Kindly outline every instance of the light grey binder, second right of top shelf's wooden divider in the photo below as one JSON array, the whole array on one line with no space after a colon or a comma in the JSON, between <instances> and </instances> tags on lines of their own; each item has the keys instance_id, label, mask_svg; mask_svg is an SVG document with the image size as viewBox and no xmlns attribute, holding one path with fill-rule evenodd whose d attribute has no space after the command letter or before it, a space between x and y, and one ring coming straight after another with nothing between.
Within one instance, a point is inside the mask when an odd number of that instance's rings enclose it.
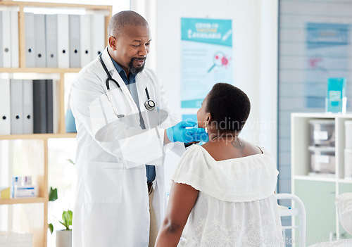
<instances>
[{"instance_id":1,"label":"light grey binder, second right of top shelf's wooden divider","mask_svg":"<svg viewBox=\"0 0 352 247\"><path fill-rule=\"evenodd\" d=\"M34 15L35 67L46 67L45 16Z\"/></svg>"}]
</instances>

